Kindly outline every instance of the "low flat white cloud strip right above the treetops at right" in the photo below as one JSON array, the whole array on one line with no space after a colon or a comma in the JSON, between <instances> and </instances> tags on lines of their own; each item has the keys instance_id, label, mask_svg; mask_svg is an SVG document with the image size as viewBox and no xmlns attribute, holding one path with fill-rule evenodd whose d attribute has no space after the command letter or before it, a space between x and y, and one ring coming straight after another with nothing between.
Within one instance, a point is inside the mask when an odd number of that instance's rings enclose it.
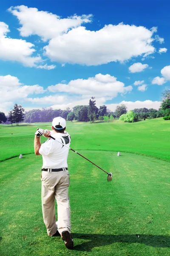
<instances>
[{"instance_id":1,"label":"low flat white cloud strip right above the treetops at right","mask_svg":"<svg viewBox=\"0 0 170 256\"><path fill-rule=\"evenodd\" d=\"M125 104L127 107L127 110L133 110L134 108L154 108L159 110L161 102L159 101L151 101L151 100L145 100L145 101L135 101L135 102L126 102L122 101L119 104L105 104L111 111L116 110L117 105Z\"/></svg>"}]
</instances>

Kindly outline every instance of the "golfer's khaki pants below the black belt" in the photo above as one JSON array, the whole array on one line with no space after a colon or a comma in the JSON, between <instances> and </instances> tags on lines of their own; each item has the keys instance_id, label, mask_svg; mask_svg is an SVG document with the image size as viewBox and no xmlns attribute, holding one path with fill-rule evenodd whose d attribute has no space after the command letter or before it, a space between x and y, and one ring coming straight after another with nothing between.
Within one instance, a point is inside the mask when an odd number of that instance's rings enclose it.
<instances>
[{"instance_id":1,"label":"golfer's khaki pants below the black belt","mask_svg":"<svg viewBox=\"0 0 170 256\"><path fill-rule=\"evenodd\" d=\"M45 172L41 174L42 181L42 214L48 236L53 236L58 231L67 230L71 233L70 204L68 186L70 184L69 172ZM58 221L56 225L55 199L57 201ZM58 226L58 227L57 227Z\"/></svg>"}]
</instances>

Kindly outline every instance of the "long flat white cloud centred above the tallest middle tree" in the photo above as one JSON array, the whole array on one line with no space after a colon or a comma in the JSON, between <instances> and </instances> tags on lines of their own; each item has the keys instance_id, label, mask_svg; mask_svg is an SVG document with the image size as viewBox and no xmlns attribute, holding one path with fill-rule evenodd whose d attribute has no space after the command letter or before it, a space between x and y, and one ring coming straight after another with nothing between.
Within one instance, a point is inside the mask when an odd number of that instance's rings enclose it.
<instances>
[{"instance_id":1,"label":"long flat white cloud centred above the tallest middle tree","mask_svg":"<svg viewBox=\"0 0 170 256\"><path fill-rule=\"evenodd\" d=\"M117 81L116 77L109 74L97 74L88 79L71 80L68 84L56 84L48 87L48 91L80 94L83 97L116 97L118 93L125 94L133 89L132 86L125 87L125 84Z\"/></svg>"}]
</instances>

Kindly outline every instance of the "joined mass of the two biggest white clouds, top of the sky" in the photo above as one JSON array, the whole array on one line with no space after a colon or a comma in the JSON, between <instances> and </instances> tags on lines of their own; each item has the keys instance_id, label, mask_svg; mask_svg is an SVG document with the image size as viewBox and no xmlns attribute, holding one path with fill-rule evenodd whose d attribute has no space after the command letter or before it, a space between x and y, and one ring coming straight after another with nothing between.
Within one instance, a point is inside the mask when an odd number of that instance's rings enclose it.
<instances>
[{"instance_id":1,"label":"joined mass of the two biggest white clouds, top of the sky","mask_svg":"<svg viewBox=\"0 0 170 256\"><path fill-rule=\"evenodd\" d=\"M100 65L111 61L126 61L130 58L143 58L154 53L154 40L164 41L159 35L153 38L157 27L147 29L143 26L105 25L97 31L87 30L84 26L91 23L92 15L73 15L62 18L37 8L15 6L8 9L20 23L20 35L38 35L48 41L44 54L51 61L81 65Z\"/></svg>"}]
</instances>

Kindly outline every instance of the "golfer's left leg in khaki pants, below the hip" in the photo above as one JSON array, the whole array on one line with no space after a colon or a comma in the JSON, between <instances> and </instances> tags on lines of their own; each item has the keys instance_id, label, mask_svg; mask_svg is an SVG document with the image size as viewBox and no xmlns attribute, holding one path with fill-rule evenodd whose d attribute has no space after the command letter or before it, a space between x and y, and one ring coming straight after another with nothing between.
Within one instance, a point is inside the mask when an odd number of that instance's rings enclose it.
<instances>
[{"instance_id":1,"label":"golfer's left leg in khaki pants, below the hip","mask_svg":"<svg viewBox=\"0 0 170 256\"><path fill-rule=\"evenodd\" d=\"M42 178L42 215L45 226L47 227L48 236L53 236L57 232L55 216L55 195L54 186L48 186L45 179Z\"/></svg>"}]
</instances>

